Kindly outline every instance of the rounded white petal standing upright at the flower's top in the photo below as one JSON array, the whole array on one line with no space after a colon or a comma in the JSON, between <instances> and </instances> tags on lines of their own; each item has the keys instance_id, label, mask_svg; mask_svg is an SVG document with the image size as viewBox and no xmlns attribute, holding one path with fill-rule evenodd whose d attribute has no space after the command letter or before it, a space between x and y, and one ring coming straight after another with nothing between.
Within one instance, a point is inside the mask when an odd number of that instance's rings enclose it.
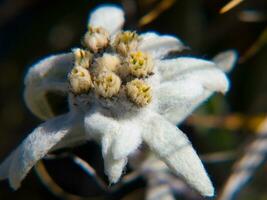
<instances>
[{"instance_id":1,"label":"rounded white petal standing upright at the flower's top","mask_svg":"<svg viewBox=\"0 0 267 200\"><path fill-rule=\"evenodd\" d=\"M101 26L113 35L124 24L124 12L116 5L100 6L90 15L88 24L95 27Z\"/></svg>"}]
</instances>

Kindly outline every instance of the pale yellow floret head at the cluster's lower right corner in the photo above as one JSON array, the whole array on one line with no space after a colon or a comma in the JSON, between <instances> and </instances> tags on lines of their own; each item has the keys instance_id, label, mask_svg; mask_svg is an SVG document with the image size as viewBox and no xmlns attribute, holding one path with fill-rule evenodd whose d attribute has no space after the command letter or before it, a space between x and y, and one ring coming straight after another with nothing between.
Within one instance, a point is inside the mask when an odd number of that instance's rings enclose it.
<instances>
[{"instance_id":1,"label":"pale yellow floret head at the cluster's lower right corner","mask_svg":"<svg viewBox=\"0 0 267 200\"><path fill-rule=\"evenodd\" d=\"M151 87L143 80L135 79L126 84L129 99L138 106L148 105L152 100Z\"/></svg>"}]
</instances>

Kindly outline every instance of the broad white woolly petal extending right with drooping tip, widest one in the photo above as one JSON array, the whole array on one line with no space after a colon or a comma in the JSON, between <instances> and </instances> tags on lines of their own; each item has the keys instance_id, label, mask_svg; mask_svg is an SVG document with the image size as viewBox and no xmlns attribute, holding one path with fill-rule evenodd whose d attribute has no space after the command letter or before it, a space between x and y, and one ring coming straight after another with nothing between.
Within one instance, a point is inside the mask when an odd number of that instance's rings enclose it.
<instances>
[{"instance_id":1,"label":"broad white woolly petal extending right with drooping tip, widest one","mask_svg":"<svg viewBox=\"0 0 267 200\"><path fill-rule=\"evenodd\" d=\"M225 74L214 63L201 59L166 60L161 62L159 70L163 80L171 81L163 83L155 92L159 99L158 112L173 124L184 120L213 92L224 93L229 87Z\"/></svg>"}]
</instances>

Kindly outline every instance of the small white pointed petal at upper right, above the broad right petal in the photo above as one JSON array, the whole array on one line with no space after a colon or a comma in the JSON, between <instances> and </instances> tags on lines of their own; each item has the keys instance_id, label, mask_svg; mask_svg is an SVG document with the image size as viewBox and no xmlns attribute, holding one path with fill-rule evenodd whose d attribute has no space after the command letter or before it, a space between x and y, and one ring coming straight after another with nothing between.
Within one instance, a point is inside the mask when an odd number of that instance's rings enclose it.
<instances>
[{"instance_id":1,"label":"small white pointed petal at upper right, above the broad right petal","mask_svg":"<svg viewBox=\"0 0 267 200\"><path fill-rule=\"evenodd\" d=\"M171 51L181 51L185 48L179 39L170 35L148 32L140 37L140 50L150 53L156 59L166 56Z\"/></svg>"}]
</instances>

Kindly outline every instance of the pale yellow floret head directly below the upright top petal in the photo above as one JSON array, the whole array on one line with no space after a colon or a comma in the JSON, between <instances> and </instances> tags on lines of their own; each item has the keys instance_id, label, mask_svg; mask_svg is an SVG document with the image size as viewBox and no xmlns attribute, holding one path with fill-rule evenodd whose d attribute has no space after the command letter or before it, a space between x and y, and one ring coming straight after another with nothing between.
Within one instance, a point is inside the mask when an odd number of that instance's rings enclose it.
<instances>
[{"instance_id":1,"label":"pale yellow floret head directly below the upright top petal","mask_svg":"<svg viewBox=\"0 0 267 200\"><path fill-rule=\"evenodd\" d=\"M97 53L109 44L109 33L102 27L89 27L83 40L85 46Z\"/></svg>"}]
</instances>

